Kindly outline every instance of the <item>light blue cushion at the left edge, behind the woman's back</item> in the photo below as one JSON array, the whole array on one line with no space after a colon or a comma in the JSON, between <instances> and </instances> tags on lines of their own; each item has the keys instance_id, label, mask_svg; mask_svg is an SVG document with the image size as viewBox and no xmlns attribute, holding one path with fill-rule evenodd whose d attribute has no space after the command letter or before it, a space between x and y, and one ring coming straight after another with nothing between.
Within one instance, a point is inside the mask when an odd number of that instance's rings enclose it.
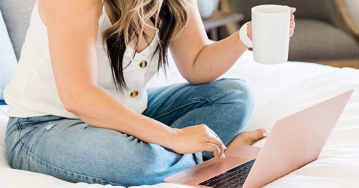
<instances>
[{"instance_id":1,"label":"light blue cushion at the left edge, behind the woman's back","mask_svg":"<svg viewBox=\"0 0 359 188\"><path fill-rule=\"evenodd\" d=\"M0 10L0 104L4 101L4 89L10 82L17 65L17 59Z\"/></svg>"}]
</instances>

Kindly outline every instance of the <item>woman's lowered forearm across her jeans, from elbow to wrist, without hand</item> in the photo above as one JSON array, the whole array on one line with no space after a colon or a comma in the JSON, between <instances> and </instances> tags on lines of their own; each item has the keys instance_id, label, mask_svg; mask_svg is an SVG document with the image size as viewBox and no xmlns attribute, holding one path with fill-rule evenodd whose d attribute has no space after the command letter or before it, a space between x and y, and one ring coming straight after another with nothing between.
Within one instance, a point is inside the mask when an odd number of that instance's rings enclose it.
<instances>
[{"instance_id":1,"label":"woman's lowered forearm across her jeans, from elbow to wrist, without hand","mask_svg":"<svg viewBox=\"0 0 359 188\"><path fill-rule=\"evenodd\" d=\"M174 129L126 107L102 87L87 87L67 109L93 127L117 130L141 141L169 147ZM72 103L71 105L69 103Z\"/></svg>"}]
</instances>

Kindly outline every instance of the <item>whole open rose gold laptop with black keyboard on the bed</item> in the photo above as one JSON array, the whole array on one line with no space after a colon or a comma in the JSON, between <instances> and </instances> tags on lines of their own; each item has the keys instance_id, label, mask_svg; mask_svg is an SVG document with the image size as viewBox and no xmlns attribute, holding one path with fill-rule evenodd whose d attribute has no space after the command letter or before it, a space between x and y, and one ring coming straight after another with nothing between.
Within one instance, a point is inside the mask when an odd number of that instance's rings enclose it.
<instances>
[{"instance_id":1,"label":"whole open rose gold laptop with black keyboard on the bed","mask_svg":"<svg viewBox=\"0 0 359 188\"><path fill-rule=\"evenodd\" d=\"M316 160L353 90L278 120L263 148L241 146L165 178L199 188L258 188Z\"/></svg>"}]
</instances>

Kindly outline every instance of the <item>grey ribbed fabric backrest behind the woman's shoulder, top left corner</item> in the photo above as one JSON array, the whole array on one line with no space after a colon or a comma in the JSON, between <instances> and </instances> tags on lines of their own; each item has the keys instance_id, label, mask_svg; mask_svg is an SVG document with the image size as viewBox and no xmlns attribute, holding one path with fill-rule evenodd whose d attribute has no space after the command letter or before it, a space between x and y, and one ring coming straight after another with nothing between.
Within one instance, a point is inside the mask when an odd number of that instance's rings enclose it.
<instances>
[{"instance_id":1,"label":"grey ribbed fabric backrest behind the woman's shoulder, top left corner","mask_svg":"<svg viewBox=\"0 0 359 188\"><path fill-rule=\"evenodd\" d=\"M5 25L18 60L35 3L36 0L0 1L0 10L3 13Z\"/></svg>"}]
</instances>

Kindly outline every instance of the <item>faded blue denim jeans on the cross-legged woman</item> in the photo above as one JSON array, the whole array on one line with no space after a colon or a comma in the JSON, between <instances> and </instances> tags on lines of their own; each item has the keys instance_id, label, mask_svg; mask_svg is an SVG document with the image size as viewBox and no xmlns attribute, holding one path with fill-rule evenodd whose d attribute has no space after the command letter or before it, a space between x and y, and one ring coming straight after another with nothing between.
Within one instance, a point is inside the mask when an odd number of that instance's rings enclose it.
<instances>
[{"instance_id":1,"label":"faded blue denim jeans on the cross-legged woman","mask_svg":"<svg viewBox=\"0 0 359 188\"><path fill-rule=\"evenodd\" d=\"M253 95L240 79L220 79L148 89L143 115L174 127L206 124L228 145L253 111ZM124 117L126 118L126 117ZM48 174L68 182L157 184L211 158L210 152L182 155L80 119L59 116L10 118L6 154L14 169Z\"/></svg>"}]
</instances>

